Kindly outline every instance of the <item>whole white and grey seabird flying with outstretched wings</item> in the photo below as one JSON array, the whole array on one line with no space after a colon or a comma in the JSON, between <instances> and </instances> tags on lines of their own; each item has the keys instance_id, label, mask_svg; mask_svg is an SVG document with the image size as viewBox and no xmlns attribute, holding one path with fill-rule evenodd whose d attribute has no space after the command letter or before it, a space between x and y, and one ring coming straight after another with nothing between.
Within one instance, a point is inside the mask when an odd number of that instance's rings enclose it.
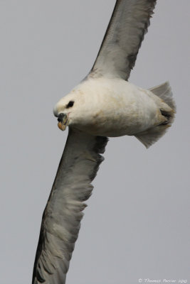
<instances>
[{"instance_id":1,"label":"whole white and grey seabird flying with outstretched wings","mask_svg":"<svg viewBox=\"0 0 190 284\"><path fill-rule=\"evenodd\" d=\"M133 135L149 147L174 119L166 82L142 89L128 82L156 0L117 0L92 70L56 104L58 127L68 126L43 212L32 284L64 284L107 137Z\"/></svg>"}]
</instances>

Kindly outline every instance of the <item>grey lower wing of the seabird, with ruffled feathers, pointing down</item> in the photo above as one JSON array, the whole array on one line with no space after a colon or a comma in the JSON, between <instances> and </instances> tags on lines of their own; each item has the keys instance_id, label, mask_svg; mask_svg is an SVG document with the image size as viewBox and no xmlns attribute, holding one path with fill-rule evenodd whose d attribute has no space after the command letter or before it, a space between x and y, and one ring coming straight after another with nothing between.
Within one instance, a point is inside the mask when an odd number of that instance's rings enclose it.
<instances>
[{"instance_id":1,"label":"grey lower wing of the seabird, with ruffled feathers, pointing down","mask_svg":"<svg viewBox=\"0 0 190 284\"><path fill-rule=\"evenodd\" d=\"M91 195L106 137L69 130L51 195L43 212L32 284L64 284L85 200Z\"/></svg>"}]
</instances>

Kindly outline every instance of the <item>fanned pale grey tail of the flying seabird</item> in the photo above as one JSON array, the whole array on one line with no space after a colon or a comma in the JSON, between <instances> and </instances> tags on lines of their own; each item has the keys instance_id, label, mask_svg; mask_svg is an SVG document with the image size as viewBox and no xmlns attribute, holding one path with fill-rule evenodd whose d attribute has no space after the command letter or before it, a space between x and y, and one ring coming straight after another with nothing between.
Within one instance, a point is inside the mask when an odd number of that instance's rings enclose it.
<instances>
[{"instance_id":1,"label":"fanned pale grey tail of the flying seabird","mask_svg":"<svg viewBox=\"0 0 190 284\"><path fill-rule=\"evenodd\" d=\"M162 116L165 116L167 121L164 121L164 123L159 124L152 129L142 131L135 136L147 148L149 148L149 146L151 146L153 143L157 142L159 138L161 138L164 133L166 133L167 129L174 121L174 114L176 112L176 104L172 97L169 82L165 82L164 84L160 84L157 87L153 87L149 89L149 91L151 91L153 94L156 94L157 97L162 99L169 106L169 109L160 109Z\"/></svg>"}]
</instances>

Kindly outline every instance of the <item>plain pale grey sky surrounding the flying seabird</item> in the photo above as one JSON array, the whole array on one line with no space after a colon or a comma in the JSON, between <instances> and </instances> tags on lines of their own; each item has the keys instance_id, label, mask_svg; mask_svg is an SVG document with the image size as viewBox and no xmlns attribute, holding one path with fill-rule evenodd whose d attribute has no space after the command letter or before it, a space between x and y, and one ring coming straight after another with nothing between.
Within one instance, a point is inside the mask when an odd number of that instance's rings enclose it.
<instances>
[{"instance_id":1,"label":"plain pale grey sky surrounding the flying seabird","mask_svg":"<svg viewBox=\"0 0 190 284\"><path fill-rule=\"evenodd\" d=\"M158 0L130 81L169 80L177 114L146 150L112 138L67 284L188 279L189 0ZM54 104L87 75L115 0L0 0L2 284L31 283L41 216L65 145Z\"/></svg>"}]
</instances>

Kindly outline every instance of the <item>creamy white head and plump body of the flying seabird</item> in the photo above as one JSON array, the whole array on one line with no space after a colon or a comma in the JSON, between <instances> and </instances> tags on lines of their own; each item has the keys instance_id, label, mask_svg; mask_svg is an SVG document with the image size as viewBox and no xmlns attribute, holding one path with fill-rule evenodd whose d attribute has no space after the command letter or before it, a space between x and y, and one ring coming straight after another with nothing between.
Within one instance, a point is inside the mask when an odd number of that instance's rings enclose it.
<instances>
[{"instance_id":1,"label":"creamy white head and plump body of the flying seabird","mask_svg":"<svg viewBox=\"0 0 190 284\"><path fill-rule=\"evenodd\" d=\"M65 105L74 102L72 108ZM173 114L163 99L121 78L89 76L60 99L54 114L68 115L68 125L97 136L138 135L167 121Z\"/></svg>"}]
</instances>

